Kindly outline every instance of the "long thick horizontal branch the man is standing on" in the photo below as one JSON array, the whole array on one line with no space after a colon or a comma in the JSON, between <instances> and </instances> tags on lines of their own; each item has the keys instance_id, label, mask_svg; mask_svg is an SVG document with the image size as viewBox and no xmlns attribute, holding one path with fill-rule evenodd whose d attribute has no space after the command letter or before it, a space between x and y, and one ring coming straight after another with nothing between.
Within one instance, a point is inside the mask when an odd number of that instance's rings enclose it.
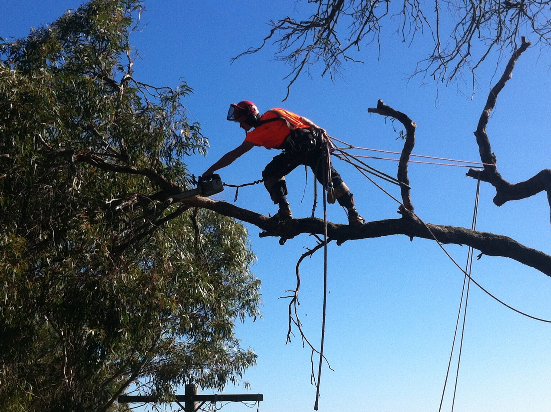
<instances>
[{"instance_id":1,"label":"long thick horizontal branch the man is standing on","mask_svg":"<svg viewBox=\"0 0 551 412\"><path fill-rule=\"evenodd\" d=\"M204 207L222 215L251 223L264 231L260 234L261 237L275 236L290 239L301 233L323 234L323 221L317 218L279 221L276 218L269 218L223 201L201 196L184 199L182 203L188 206ZM510 258L551 276L550 255L526 247L510 237L489 232L472 231L462 227L425 224L426 227L413 214L404 213L402 218L368 222L360 228L327 222L327 234L330 239L336 240L337 244L342 244L346 240L369 239L395 234L432 240L434 234L441 243L465 244L480 250L485 255Z\"/></svg>"}]
</instances>

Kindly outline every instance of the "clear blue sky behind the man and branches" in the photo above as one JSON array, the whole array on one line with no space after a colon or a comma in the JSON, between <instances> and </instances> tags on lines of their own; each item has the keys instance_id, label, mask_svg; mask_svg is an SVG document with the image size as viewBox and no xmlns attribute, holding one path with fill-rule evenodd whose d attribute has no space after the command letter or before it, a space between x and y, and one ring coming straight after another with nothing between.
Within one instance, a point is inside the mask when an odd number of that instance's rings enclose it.
<instances>
[{"instance_id":1,"label":"clear blue sky behind the man and branches","mask_svg":"<svg viewBox=\"0 0 551 412\"><path fill-rule=\"evenodd\" d=\"M78 0L2 0L0 36L24 36L78 7ZM229 103L254 101L261 112L283 107L309 117L329 134L356 146L400 151L390 121L369 115L377 99L408 114L417 123L414 153L479 160L473 136L491 87L499 77L490 56L479 71L476 94L469 85L444 87L430 80L407 77L415 62L425 57L426 40L411 47L399 42L391 24L383 27L380 59L376 47L365 45L355 55L364 64L347 63L334 83L321 78L314 67L311 78L302 76L287 101L289 68L273 59L273 47L245 56L233 65L230 58L259 45L268 33L269 19L293 14L306 2L185 2L145 1L145 28L134 33L132 45L141 59L135 77L156 85L176 86L182 77L195 90L184 102L192 119L201 122L210 139L208 157L194 158L196 175L238 146L244 133L225 120ZM530 39L529 40L534 40ZM551 54L532 47L520 58L512 80L499 95L488 135L505 179L516 183L551 167L549 113ZM467 90L468 97L462 92ZM396 125L399 130L399 125ZM276 151L255 148L220 170L226 183L260 179ZM398 217L397 205L354 169L336 161L336 168L354 192L367 220ZM395 175L396 163L370 164ZM466 168L410 164L409 178L415 212L426 222L470 227L476 181ZM288 176L295 217L310 216L313 178L298 168ZM306 194L301 202L303 191ZM398 196L396 186L383 186ZM545 194L501 207L492 203L495 190L482 184L478 229L510 236L530 247L551 253L549 206ZM234 191L217 199L233 202ZM236 204L267 215L276 206L262 185L240 190ZM321 207L317 209L321 217ZM329 206L328 218L344 223L341 207ZM258 238L247 226L257 255L253 266L262 280L263 318L240 325L242 345L258 354L258 365L247 371L250 393L263 393L263 412L312 410L315 387L310 384L310 350L297 337L285 345L287 299L294 288L294 267L305 248L315 245L307 235L280 246L277 238ZM447 245L462 265L467 248ZM453 329L459 304L462 273L434 242L404 236L349 241L329 245L329 292L325 354L334 372L324 369L321 411L436 411L444 384ZM477 254L477 252L475 252ZM323 254L318 252L301 266L300 315L309 339L319 345L323 288ZM524 312L551 319L551 279L515 261L483 256L473 265L473 277L505 302ZM551 406L551 325L522 317L471 288L464 335L456 411L548 411ZM317 362L317 361L316 361ZM451 388L450 388L451 389ZM450 392L449 389L449 392ZM247 392L228 387L226 393ZM450 410L451 397L444 409ZM228 411L243 411L230 405Z\"/></svg>"}]
</instances>

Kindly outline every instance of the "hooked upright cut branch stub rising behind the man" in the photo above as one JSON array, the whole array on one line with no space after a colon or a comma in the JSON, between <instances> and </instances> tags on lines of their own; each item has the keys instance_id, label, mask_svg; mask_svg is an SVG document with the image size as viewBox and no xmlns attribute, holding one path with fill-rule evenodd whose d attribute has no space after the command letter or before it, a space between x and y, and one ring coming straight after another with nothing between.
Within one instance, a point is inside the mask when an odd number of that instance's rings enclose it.
<instances>
[{"instance_id":1,"label":"hooked upright cut branch stub rising behind the man","mask_svg":"<svg viewBox=\"0 0 551 412\"><path fill-rule=\"evenodd\" d=\"M408 178L408 162L409 157L413 151L413 146L415 145L415 122L409 118L406 114L401 111L391 108L391 106L383 103L381 99L377 100L376 109L368 109L368 113L377 113L382 116L393 117L394 119L401 122L401 124L406 129L406 142L402 149L402 154L400 155L400 161L398 163L398 181L404 183L400 185L400 191L402 195L403 206L408 210L413 212L413 204L410 195L409 189L409 178Z\"/></svg>"}]
</instances>

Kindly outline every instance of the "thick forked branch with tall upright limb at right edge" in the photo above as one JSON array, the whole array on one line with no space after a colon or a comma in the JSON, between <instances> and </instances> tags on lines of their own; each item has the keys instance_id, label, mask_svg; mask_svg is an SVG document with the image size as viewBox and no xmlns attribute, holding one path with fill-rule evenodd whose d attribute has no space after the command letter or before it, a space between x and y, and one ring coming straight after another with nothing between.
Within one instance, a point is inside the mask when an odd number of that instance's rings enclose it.
<instances>
[{"instance_id":1,"label":"thick forked branch with tall upright limb at right edge","mask_svg":"<svg viewBox=\"0 0 551 412\"><path fill-rule=\"evenodd\" d=\"M505 67L503 76L501 76L498 83L496 83L490 90L488 100L478 121L477 130L474 132L474 136L477 138L480 160L484 163L484 170L480 172L476 169L470 169L467 172L467 176L486 181L493 185L496 192L494 204L497 206L501 206L510 200L525 199L526 197L533 196L545 190L547 192L549 207L551 208L551 170L544 169L532 178L520 183L509 183L498 172L496 166L496 156L491 152L490 140L486 132L486 126L488 125L490 113L495 107L499 92L501 92L501 89L505 87L507 81L511 79L516 61L530 45L531 42L527 41L526 38L523 37L522 45L511 56L507 66Z\"/></svg>"}]
</instances>

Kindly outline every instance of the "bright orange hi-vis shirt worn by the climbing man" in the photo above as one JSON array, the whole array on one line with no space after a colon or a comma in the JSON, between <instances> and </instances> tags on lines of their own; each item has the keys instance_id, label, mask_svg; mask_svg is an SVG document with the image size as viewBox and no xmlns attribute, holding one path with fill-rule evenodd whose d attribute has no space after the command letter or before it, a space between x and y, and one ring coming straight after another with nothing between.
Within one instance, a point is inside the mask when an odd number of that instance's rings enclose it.
<instances>
[{"instance_id":1,"label":"bright orange hi-vis shirt worn by the climbing man","mask_svg":"<svg viewBox=\"0 0 551 412\"><path fill-rule=\"evenodd\" d=\"M299 115L291 113L284 109L271 109L260 116L260 120L273 119L274 117L284 117L293 127L293 129L307 129L310 126L300 119ZM246 142L254 143L256 146L263 146L268 149L278 149L285 138L289 136L290 130L287 122L281 119L280 121L271 121L264 125L255 127L247 133Z\"/></svg>"}]
</instances>

